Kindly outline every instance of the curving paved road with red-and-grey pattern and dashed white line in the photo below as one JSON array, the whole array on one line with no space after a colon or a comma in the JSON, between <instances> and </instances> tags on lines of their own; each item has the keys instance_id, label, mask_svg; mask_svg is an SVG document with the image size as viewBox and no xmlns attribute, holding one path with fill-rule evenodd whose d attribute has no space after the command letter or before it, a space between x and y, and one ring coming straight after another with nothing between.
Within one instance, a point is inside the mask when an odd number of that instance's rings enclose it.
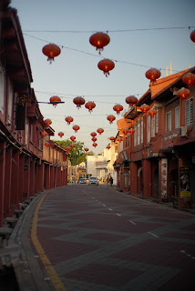
<instances>
[{"instance_id":1,"label":"curving paved road with red-and-grey pattern and dashed white line","mask_svg":"<svg viewBox=\"0 0 195 291\"><path fill-rule=\"evenodd\" d=\"M50 190L31 236L52 290L195 290L195 216L108 186Z\"/></svg>"}]
</instances>

